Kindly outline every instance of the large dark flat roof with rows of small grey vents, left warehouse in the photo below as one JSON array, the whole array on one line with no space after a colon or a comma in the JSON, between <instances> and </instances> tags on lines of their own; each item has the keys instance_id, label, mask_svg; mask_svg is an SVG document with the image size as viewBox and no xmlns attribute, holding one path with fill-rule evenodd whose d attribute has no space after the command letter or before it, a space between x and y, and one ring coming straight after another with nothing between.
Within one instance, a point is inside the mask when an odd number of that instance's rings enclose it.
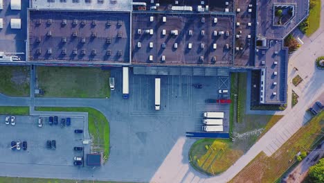
<instances>
[{"instance_id":1,"label":"large dark flat roof with rows of small grey vents, left warehouse","mask_svg":"<svg viewBox=\"0 0 324 183\"><path fill-rule=\"evenodd\" d=\"M128 12L29 11L29 60L129 62Z\"/></svg>"}]
</instances>

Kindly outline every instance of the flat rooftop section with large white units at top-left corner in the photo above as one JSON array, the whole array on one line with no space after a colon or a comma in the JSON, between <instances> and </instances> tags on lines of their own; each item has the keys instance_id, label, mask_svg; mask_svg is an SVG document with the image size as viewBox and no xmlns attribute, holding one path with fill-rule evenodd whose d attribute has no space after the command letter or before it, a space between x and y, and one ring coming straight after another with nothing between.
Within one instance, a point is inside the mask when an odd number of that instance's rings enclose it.
<instances>
[{"instance_id":1,"label":"flat rooftop section with large white units at top-left corner","mask_svg":"<svg viewBox=\"0 0 324 183\"><path fill-rule=\"evenodd\" d=\"M28 1L21 1L21 10L11 10L10 0L3 0L3 9L0 10L0 19L3 21L3 28L0 28L0 51L18 54L21 60L26 59L27 39L27 8ZM13 29L10 26L11 19L21 19L21 28ZM16 55L16 54L8 54Z\"/></svg>"}]
</instances>

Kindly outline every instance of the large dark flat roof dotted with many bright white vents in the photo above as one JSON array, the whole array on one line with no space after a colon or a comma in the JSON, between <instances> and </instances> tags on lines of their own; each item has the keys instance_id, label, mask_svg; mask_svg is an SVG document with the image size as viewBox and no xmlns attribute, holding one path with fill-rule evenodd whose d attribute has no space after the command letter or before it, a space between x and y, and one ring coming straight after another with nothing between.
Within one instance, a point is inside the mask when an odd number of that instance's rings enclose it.
<instances>
[{"instance_id":1,"label":"large dark flat roof dotted with many bright white vents","mask_svg":"<svg viewBox=\"0 0 324 183\"><path fill-rule=\"evenodd\" d=\"M231 65L233 19L233 15L133 12L132 63Z\"/></svg>"}]
</instances>

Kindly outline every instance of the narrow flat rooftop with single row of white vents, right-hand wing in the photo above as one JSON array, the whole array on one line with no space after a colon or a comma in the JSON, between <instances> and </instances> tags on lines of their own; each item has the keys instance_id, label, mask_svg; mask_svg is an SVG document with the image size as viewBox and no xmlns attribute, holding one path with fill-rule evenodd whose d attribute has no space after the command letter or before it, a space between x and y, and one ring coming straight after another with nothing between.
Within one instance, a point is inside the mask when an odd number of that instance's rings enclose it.
<instances>
[{"instance_id":1,"label":"narrow flat rooftop with single row of white vents, right-hand wing","mask_svg":"<svg viewBox=\"0 0 324 183\"><path fill-rule=\"evenodd\" d=\"M267 44L267 49L258 49L255 61L256 66L265 69L264 103L282 104L287 98L288 50L283 48L282 40L269 40Z\"/></svg>"}]
</instances>

